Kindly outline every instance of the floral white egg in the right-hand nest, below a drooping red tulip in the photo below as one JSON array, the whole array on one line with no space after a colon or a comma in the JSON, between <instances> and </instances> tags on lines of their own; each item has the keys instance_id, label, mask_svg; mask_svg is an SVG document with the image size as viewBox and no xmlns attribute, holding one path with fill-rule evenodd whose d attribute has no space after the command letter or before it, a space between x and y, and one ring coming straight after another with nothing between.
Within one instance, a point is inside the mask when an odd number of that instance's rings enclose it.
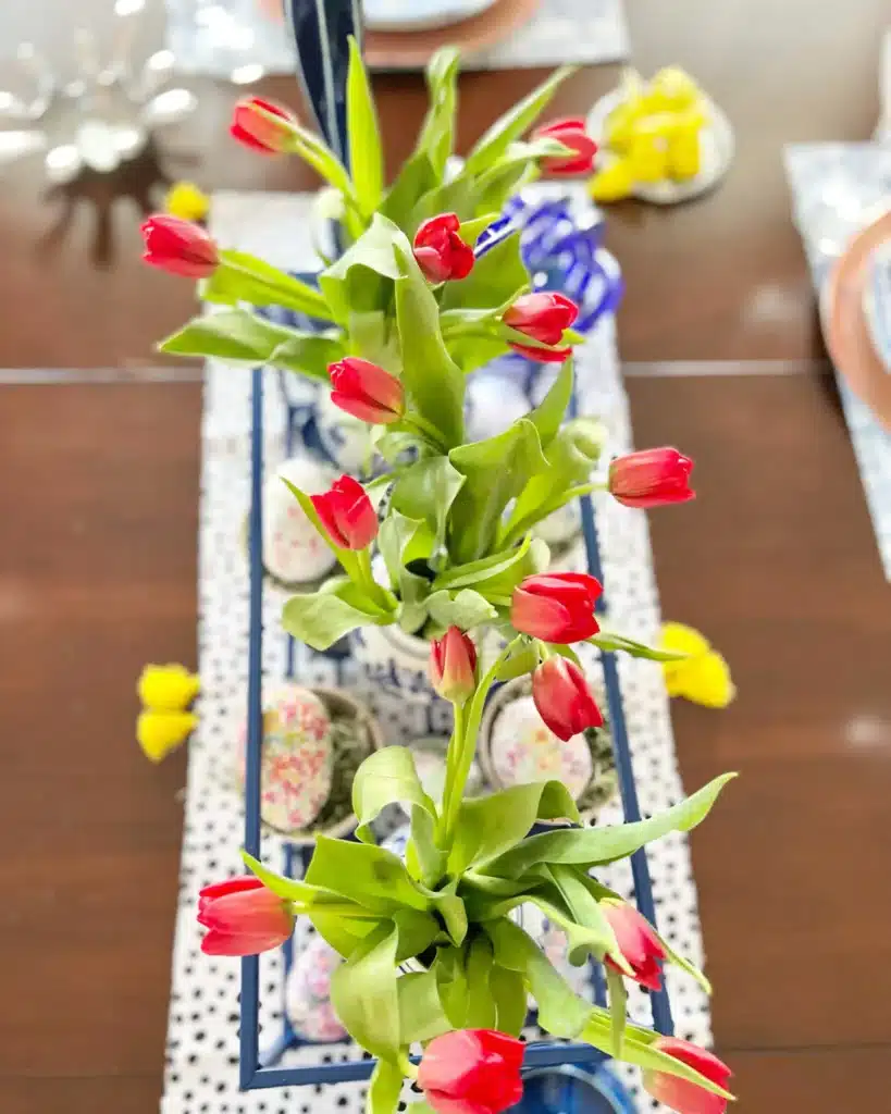
<instances>
[{"instance_id":1,"label":"floral white egg in the right-hand nest, below a drooping red tulip","mask_svg":"<svg viewBox=\"0 0 891 1114\"><path fill-rule=\"evenodd\" d=\"M506 788L554 779L578 799L594 774L585 736L574 735L567 742L558 739L542 723L531 696L518 696L498 713L489 737L489 758L496 779Z\"/></svg>"}]
</instances>

